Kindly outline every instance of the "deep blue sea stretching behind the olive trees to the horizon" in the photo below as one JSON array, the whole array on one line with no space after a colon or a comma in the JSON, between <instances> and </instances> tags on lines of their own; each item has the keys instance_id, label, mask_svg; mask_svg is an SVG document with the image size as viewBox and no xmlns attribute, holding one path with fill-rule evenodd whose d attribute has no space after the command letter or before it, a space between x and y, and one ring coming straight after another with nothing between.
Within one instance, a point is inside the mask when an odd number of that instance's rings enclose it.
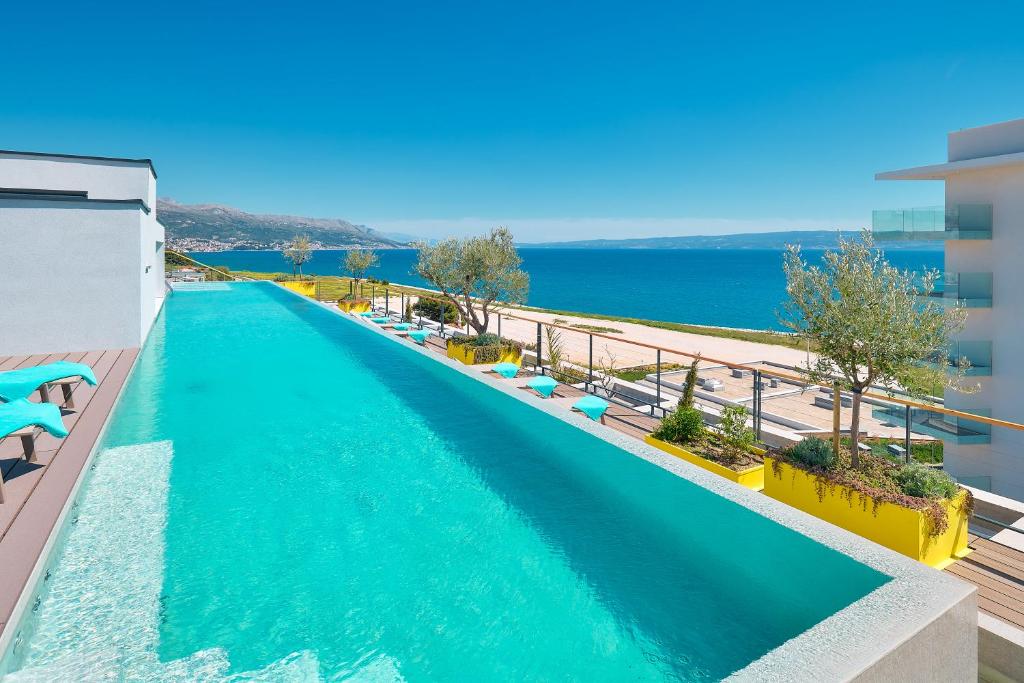
<instances>
[{"instance_id":1,"label":"deep blue sea stretching behind the olive trees to the horizon","mask_svg":"<svg viewBox=\"0 0 1024 683\"><path fill-rule=\"evenodd\" d=\"M412 249L377 252L380 265L368 276L427 286L413 271ZM805 250L816 263L823 251ZM754 330L784 330L779 310L785 299L782 250L757 249L528 249L519 255L529 273L531 306L673 323ZM222 251L188 254L231 270L290 271L281 252ZM346 274L343 250L313 252L302 270ZM943 252L893 250L899 268L942 269Z\"/></svg>"}]
</instances>

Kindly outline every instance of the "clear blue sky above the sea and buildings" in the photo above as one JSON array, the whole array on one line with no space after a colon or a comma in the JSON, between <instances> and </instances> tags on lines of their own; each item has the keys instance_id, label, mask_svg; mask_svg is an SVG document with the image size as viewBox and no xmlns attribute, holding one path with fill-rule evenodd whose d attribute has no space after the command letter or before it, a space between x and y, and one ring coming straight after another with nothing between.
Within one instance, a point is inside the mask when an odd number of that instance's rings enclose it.
<instances>
[{"instance_id":1,"label":"clear blue sky above the sea and buildings","mask_svg":"<svg viewBox=\"0 0 1024 683\"><path fill-rule=\"evenodd\" d=\"M876 172L1024 117L1009 0L210 4L6 7L0 148L151 157L186 203L538 241L863 225L942 201Z\"/></svg>"}]
</instances>

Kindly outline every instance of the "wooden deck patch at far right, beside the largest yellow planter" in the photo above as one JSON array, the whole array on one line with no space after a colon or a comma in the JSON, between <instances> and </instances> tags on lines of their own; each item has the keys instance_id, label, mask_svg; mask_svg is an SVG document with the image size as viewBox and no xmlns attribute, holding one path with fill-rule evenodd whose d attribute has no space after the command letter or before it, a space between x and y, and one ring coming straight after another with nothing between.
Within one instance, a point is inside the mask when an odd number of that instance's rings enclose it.
<instances>
[{"instance_id":1,"label":"wooden deck patch at far right, beside the largest yellow planter","mask_svg":"<svg viewBox=\"0 0 1024 683\"><path fill-rule=\"evenodd\" d=\"M978 587L978 609L1024 629L1024 553L971 535L973 551L946 571Z\"/></svg>"}]
</instances>

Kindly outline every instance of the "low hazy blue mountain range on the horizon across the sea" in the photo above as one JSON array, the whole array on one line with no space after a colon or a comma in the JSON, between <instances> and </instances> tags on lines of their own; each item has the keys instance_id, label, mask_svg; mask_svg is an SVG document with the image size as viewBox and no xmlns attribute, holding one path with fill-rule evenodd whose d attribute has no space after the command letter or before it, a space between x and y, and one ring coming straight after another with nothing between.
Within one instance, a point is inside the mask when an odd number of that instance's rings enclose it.
<instances>
[{"instance_id":1,"label":"low hazy blue mountain range on the horizon across the sea","mask_svg":"<svg viewBox=\"0 0 1024 683\"><path fill-rule=\"evenodd\" d=\"M856 238L856 230L787 230L739 234L693 234L678 238L633 238L628 240L578 240L520 244L530 249L783 249L799 244L804 249L833 249L839 238ZM886 242L892 249L942 249L941 242Z\"/></svg>"}]
</instances>

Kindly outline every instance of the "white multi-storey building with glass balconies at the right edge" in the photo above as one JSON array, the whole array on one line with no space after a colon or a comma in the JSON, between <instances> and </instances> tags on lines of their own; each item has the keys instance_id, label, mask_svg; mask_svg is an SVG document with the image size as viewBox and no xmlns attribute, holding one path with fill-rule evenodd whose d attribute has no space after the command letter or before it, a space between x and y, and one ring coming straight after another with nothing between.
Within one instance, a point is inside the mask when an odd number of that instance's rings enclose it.
<instances>
[{"instance_id":1,"label":"white multi-storey building with glass balconies at the right edge","mask_svg":"<svg viewBox=\"0 0 1024 683\"><path fill-rule=\"evenodd\" d=\"M944 298L969 308L950 355L971 361L966 379L981 387L947 391L946 404L1024 422L1024 119L949 133L946 163L876 177L945 181L945 207L876 211L873 230L945 241ZM943 435L950 474L1024 500L1024 432L934 414L913 420Z\"/></svg>"}]
</instances>

